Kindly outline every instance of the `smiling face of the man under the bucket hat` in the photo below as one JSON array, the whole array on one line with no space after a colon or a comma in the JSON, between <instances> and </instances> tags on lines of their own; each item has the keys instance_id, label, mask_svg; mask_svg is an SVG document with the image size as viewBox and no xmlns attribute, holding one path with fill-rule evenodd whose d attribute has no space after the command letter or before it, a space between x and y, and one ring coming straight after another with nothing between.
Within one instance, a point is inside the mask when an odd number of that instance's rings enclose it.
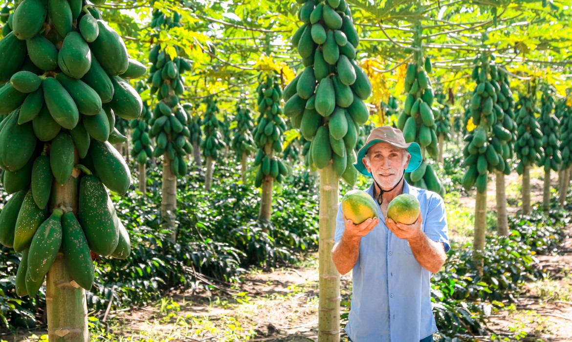
<instances>
[{"instance_id":1,"label":"smiling face of the man under the bucket hat","mask_svg":"<svg viewBox=\"0 0 572 342\"><path fill-rule=\"evenodd\" d=\"M364 157L363 164L383 190L391 189L398 183L411 158L406 149L396 148L388 142L371 146L367 156L369 158Z\"/></svg>"}]
</instances>

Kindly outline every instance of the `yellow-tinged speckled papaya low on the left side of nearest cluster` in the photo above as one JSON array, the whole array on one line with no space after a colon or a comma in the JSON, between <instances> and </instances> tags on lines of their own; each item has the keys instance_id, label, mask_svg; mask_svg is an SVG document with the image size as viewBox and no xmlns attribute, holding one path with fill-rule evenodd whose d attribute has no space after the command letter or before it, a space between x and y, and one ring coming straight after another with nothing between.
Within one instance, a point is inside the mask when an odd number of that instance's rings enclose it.
<instances>
[{"instance_id":1,"label":"yellow-tinged speckled papaya low on the left side of nearest cluster","mask_svg":"<svg viewBox=\"0 0 572 342\"><path fill-rule=\"evenodd\" d=\"M38 227L46 220L47 210L40 209L34 202L31 189L27 191L16 219L14 250L28 249Z\"/></svg>"}]
</instances>

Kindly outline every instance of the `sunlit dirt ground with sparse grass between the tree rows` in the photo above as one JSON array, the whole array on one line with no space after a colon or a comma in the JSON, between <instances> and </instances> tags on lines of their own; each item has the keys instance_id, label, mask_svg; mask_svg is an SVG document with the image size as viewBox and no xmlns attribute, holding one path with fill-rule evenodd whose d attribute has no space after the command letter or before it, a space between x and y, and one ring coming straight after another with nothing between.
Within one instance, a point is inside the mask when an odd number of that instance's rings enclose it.
<instances>
[{"instance_id":1,"label":"sunlit dirt ground with sparse grass between the tree rows","mask_svg":"<svg viewBox=\"0 0 572 342\"><path fill-rule=\"evenodd\" d=\"M518 181L515 173L506 179L507 184ZM531 201L542 201L542 179L533 178L531 190ZM495 210L494 181L489 183L488 196L491 197L489 209ZM510 213L519 209L514 204L518 202L516 198L508 198L507 202ZM474 198L463 197L462 205L474 208ZM538 257L542 267L550 270L549 279L528 284L513 309L491 315L490 328L496 335L514 336L515 331L521 331L528 333L527 337L519 338L524 341L572 341L571 226L567 228L567 236L561 255ZM214 291L173 293L169 302L111 312L109 325L103 325L102 329L112 335L98 340L114 341L121 337L130 341L177 342L316 341L318 274L315 257L317 254L308 260L307 267L251 272L239 285L217 283L220 289ZM351 274L342 276L343 301L350 299L350 285ZM42 333L45 332L35 332L38 336ZM0 340L35 341L29 336L29 333L13 339L0 336ZM345 336L342 339L345 341Z\"/></svg>"}]
</instances>

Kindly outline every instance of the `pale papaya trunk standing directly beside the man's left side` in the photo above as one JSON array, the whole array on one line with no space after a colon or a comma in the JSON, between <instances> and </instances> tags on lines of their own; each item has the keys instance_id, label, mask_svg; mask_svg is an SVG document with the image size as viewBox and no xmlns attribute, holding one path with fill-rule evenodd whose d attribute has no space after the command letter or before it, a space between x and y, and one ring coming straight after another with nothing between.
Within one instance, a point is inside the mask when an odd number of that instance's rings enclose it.
<instances>
[{"instance_id":1,"label":"pale papaya trunk standing directly beside the man's left side","mask_svg":"<svg viewBox=\"0 0 572 342\"><path fill-rule=\"evenodd\" d=\"M320 297L318 340L340 341L340 273L332 261L340 180L332 164L320 170Z\"/></svg>"}]
</instances>

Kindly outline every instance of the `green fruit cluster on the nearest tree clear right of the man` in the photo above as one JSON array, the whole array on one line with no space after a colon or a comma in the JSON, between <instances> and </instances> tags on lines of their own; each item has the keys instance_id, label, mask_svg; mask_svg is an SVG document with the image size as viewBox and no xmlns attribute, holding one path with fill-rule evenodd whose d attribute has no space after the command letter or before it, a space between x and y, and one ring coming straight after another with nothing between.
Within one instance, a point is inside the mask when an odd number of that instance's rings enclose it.
<instances>
[{"instance_id":1,"label":"green fruit cluster on the nearest tree clear right of the man","mask_svg":"<svg viewBox=\"0 0 572 342\"><path fill-rule=\"evenodd\" d=\"M467 145L463 149L463 166L467 172L462 185L470 190L475 184L478 192L487 188L488 172L495 170L510 173L507 161L510 157L509 142L513 139L510 130L503 127L505 112L499 103L506 102L506 92L499 84L499 73L494 61L487 54L475 58L472 79L476 88L471 97L471 118L476 128L464 137ZM509 89L510 91L510 89ZM499 102L499 98L503 101ZM510 125L512 121L507 121Z\"/></svg>"}]
</instances>

